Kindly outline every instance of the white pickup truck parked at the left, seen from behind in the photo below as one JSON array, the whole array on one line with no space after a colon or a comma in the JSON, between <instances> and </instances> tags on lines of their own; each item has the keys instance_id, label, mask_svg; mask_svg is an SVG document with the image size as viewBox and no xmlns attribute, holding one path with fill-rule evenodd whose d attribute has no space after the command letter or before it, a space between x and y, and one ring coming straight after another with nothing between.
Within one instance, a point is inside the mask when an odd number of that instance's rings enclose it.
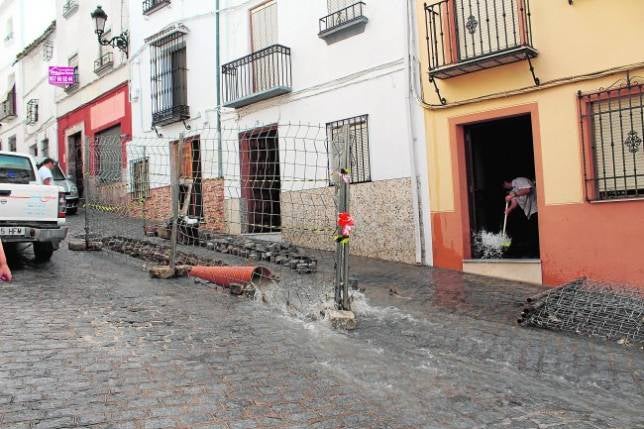
<instances>
[{"instance_id":1,"label":"white pickup truck parked at the left, seen from behind","mask_svg":"<svg viewBox=\"0 0 644 429\"><path fill-rule=\"evenodd\" d=\"M46 262L67 236L65 193L43 185L29 155L0 152L0 239L8 246L33 243Z\"/></svg>"}]
</instances>

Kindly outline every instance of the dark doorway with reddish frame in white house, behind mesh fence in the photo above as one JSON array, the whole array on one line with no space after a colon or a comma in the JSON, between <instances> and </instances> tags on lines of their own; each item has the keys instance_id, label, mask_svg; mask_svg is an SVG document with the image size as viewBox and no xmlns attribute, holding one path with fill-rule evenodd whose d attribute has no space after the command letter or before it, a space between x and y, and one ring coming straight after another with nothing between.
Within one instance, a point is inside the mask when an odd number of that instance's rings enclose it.
<instances>
[{"instance_id":1,"label":"dark doorway with reddish frame in white house, behind mesh fence","mask_svg":"<svg viewBox=\"0 0 644 429\"><path fill-rule=\"evenodd\" d=\"M240 136L242 222L244 232L281 230L280 159L276 127L264 127Z\"/></svg>"}]
</instances>

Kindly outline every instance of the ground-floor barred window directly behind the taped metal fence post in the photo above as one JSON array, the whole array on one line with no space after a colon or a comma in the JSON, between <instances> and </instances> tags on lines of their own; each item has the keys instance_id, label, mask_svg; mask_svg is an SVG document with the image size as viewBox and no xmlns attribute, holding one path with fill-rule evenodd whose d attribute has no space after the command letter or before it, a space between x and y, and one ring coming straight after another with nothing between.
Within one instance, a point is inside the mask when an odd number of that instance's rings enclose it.
<instances>
[{"instance_id":1,"label":"ground-floor barred window directly behind the taped metal fence post","mask_svg":"<svg viewBox=\"0 0 644 429\"><path fill-rule=\"evenodd\" d=\"M331 142L341 139L344 125L349 126L349 147L351 159L351 183L371 181L371 160L369 154L369 115L356 116L326 124L329 152L332 166L337 165L337 149Z\"/></svg>"}]
</instances>

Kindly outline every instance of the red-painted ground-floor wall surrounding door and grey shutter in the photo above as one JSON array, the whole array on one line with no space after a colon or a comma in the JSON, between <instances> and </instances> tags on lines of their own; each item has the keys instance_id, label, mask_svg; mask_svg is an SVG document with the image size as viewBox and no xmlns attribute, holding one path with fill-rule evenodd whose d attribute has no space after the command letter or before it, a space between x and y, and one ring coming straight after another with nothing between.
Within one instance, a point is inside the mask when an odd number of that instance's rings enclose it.
<instances>
[{"instance_id":1,"label":"red-painted ground-floor wall surrounding door and grey shutter","mask_svg":"<svg viewBox=\"0 0 644 429\"><path fill-rule=\"evenodd\" d=\"M120 118L114 119L110 122L101 123L100 126L92 128L91 112L92 108L113 98L123 95L123 102L125 104L123 112L125 113ZM129 92L127 82L107 91L106 93L96 97L89 103L69 112L58 118L58 159L60 161L63 171L67 171L67 139L65 132L68 128L74 127L79 123L83 124L85 138L93 139L96 133L99 133L108 128L120 125L121 133L126 134L128 137L123 143L131 139L132 136L132 106L129 102ZM125 145L123 146L123 162L126 161Z\"/></svg>"}]
</instances>

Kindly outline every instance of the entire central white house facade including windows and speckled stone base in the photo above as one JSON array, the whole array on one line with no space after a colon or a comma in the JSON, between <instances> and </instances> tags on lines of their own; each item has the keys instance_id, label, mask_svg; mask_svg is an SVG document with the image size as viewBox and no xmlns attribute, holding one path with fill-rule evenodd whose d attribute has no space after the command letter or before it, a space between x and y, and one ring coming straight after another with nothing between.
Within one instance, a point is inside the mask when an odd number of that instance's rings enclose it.
<instances>
[{"instance_id":1,"label":"entire central white house facade including windows and speckled stone base","mask_svg":"<svg viewBox=\"0 0 644 429\"><path fill-rule=\"evenodd\" d=\"M303 234L302 225L335 222L329 142L348 130L352 253L431 263L407 2L138 3L130 4L133 136L190 137L190 179L201 181L193 202L204 207L194 215L223 216L225 226L206 222L213 229L332 248L332 237ZM162 199L167 162L150 164L152 199Z\"/></svg>"}]
</instances>

